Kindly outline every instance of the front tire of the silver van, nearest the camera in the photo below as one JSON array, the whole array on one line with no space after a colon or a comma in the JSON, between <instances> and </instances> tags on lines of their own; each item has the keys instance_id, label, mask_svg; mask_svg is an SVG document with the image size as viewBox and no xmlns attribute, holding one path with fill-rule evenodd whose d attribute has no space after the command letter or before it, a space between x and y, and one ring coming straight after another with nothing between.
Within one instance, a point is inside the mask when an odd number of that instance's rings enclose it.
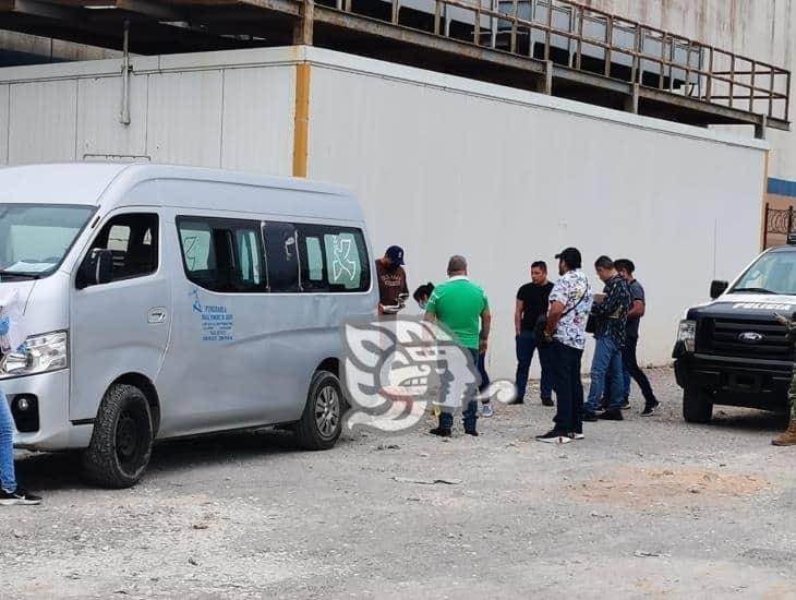
<instances>
[{"instance_id":1,"label":"front tire of the silver van, nearest the camera","mask_svg":"<svg viewBox=\"0 0 796 600\"><path fill-rule=\"evenodd\" d=\"M131 488L149 464L154 441L144 393L132 385L114 384L99 405L92 441L83 451L83 476L102 488Z\"/></svg>"}]
</instances>

